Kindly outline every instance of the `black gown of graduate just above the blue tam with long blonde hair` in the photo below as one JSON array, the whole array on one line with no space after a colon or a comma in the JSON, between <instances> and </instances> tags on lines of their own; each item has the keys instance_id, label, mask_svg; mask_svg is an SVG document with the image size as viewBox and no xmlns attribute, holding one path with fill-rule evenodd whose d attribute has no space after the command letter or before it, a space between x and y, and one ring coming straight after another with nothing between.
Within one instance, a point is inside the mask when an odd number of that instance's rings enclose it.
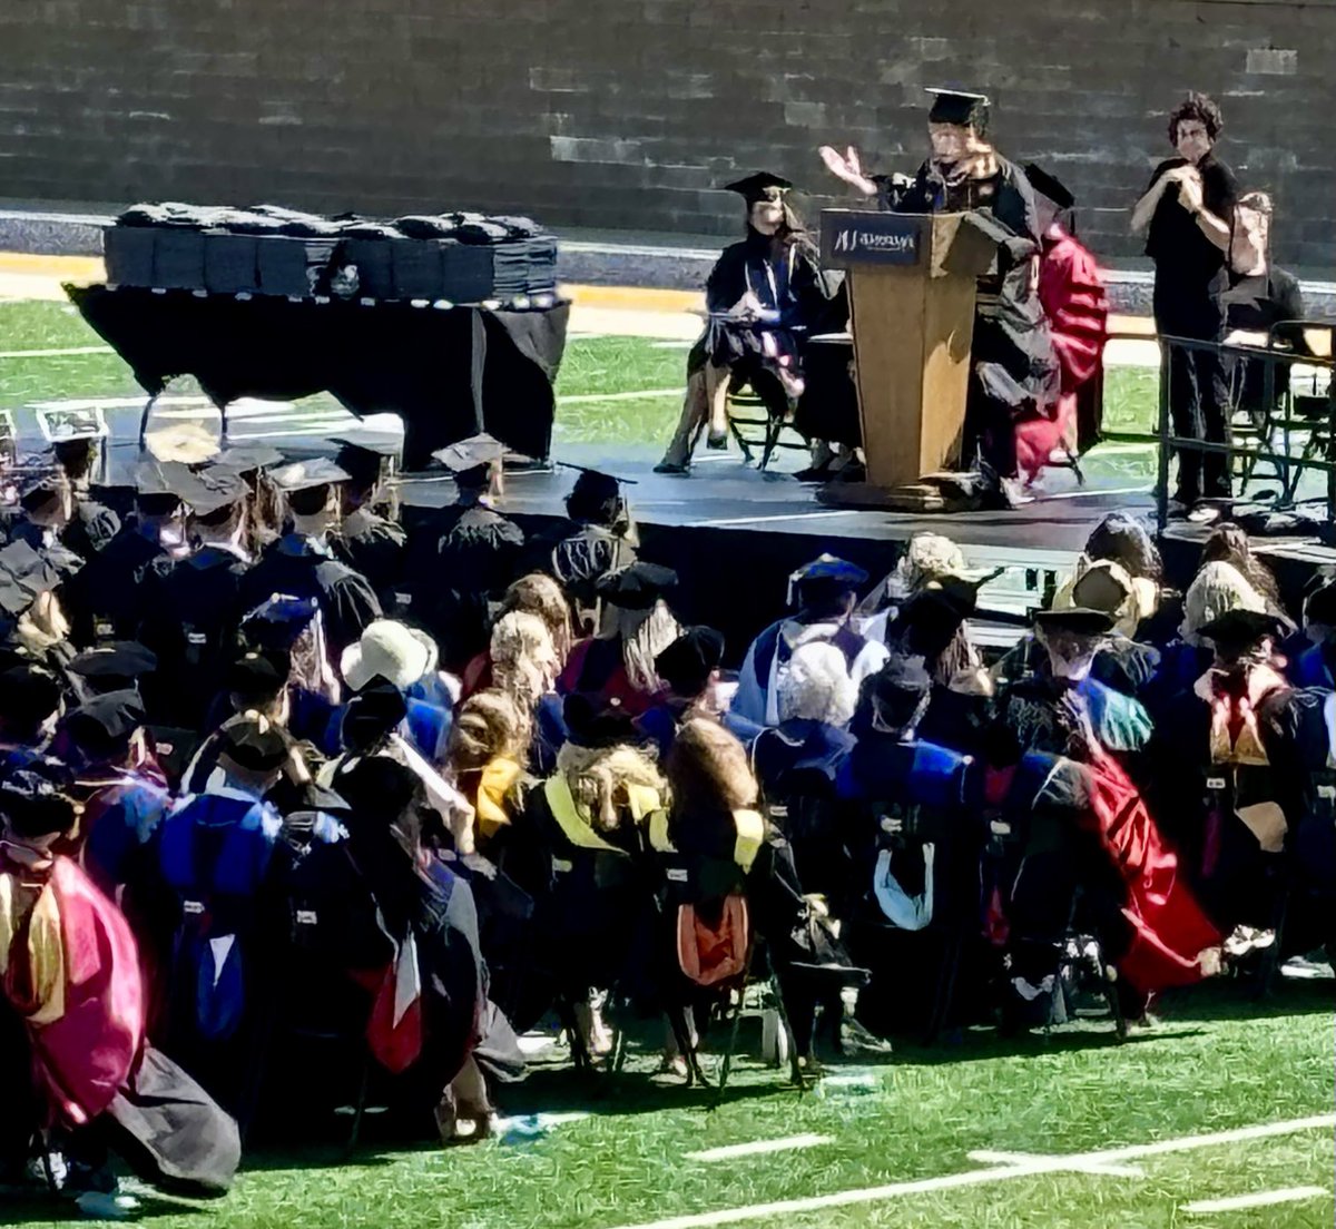
<instances>
[{"instance_id":1,"label":"black gown of graduate just above the blue tam with long blonde hair","mask_svg":"<svg viewBox=\"0 0 1336 1229\"><path fill-rule=\"evenodd\" d=\"M342 653L381 617L381 602L365 576L334 558L329 546L298 533L273 542L240 585L243 610L275 593L314 597L325 619L331 652Z\"/></svg>"}]
</instances>

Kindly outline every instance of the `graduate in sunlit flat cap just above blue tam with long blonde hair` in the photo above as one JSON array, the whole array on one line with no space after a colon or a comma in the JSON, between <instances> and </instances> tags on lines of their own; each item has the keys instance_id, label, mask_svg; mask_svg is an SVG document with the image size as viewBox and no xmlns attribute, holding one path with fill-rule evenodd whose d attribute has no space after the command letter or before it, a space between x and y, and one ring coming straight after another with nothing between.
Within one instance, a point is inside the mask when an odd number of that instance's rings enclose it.
<instances>
[{"instance_id":1,"label":"graduate in sunlit flat cap just above blue tam with long blonde hair","mask_svg":"<svg viewBox=\"0 0 1336 1229\"><path fill-rule=\"evenodd\" d=\"M338 520L337 486L347 481L347 470L322 457L285 465L271 478L287 497L291 525L246 574L242 605L255 609L275 593L314 597L333 668L343 649L381 617L381 602L370 582L341 564L329 545Z\"/></svg>"}]
</instances>

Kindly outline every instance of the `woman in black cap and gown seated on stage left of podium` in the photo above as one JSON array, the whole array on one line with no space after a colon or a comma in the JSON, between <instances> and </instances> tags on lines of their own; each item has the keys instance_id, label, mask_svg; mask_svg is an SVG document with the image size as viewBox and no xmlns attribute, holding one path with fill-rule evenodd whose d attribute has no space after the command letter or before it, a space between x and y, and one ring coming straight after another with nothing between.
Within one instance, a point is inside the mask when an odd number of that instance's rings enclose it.
<instances>
[{"instance_id":1,"label":"woman in black cap and gown seated on stage left of podium","mask_svg":"<svg viewBox=\"0 0 1336 1229\"><path fill-rule=\"evenodd\" d=\"M707 426L709 448L728 446L729 386L749 383L772 418L792 417L803 393L802 338L832 291L786 200L790 188L764 172L728 184L747 203L747 238L724 250L705 283L709 322L687 358L687 401L656 473L687 473Z\"/></svg>"}]
</instances>

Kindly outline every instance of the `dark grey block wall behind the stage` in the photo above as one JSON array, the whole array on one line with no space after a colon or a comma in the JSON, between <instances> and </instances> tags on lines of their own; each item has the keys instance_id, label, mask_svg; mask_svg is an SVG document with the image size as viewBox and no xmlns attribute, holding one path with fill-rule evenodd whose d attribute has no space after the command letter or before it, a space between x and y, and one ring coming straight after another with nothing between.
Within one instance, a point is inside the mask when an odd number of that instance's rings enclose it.
<instances>
[{"instance_id":1,"label":"dark grey block wall behind the stage","mask_svg":"<svg viewBox=\"0 0 1336 1229\"><path fill-rule=\"evenodd\" d=\"M729 235L717 186L840 186L823 142L911 171L922 88L993 95L1104 256L1189 87L1277 198L1281 263L1336 271L1336 0L11 0L0 196L478 207ZM828 198L812 195L814 211Z\"/></svg>"}]
</instances>

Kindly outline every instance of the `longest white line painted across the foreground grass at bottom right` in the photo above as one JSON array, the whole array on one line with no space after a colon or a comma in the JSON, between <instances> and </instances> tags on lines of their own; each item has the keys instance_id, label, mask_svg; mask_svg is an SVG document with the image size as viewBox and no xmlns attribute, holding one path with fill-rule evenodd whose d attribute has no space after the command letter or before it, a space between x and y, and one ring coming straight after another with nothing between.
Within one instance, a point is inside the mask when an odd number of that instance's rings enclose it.
<instances>
[{"instance_id":1,"label":"longest white line painted across the foreground grass at bottom right","mask_svg":"<svg viewBox=\"0 0 1336 1229\"><path fill-rule=\"evenodd\" d=\"M1073 1153L1066 1157L1034 1157L1015 1165L998 1165L993 1169L971 1169L965 1173L942 1174L935 1178L918 1178L908 1182L891 1182L886 1186L866 1186L860 1190L840 1190L834 1194L811 1196L806 1200L778 1200L772 1204L752 1204L747 1208L724 1208L719 1212L703 1212L695 1216L673 1216L661 1221L647 1221L640 1225L624 1225L620 1229L712 1229L715 1225L737 1225L744 1221L759 1221L776 1216L796 1216L804 1212L822 1212L827 1208L848 1208L856 1204L878 1204L906 1194L923 1194L931 1190L955 1190L966 1186L986 1186L994 1182L1009 1182L1014 1178L1031 1178L1046 1173L1071 1172L1079 1165L1118 1165L1122 1161L1136 1161L1142 1157L1161 1157L1169 1153L1192 1152L1198 1148L1216 1148L1222 1144L1241 1144L1249 1139L1269 1139L1276 1135L1292 1135L1305 1130L1331 1130L1336 1127L1336 1114L1316 1114L1311 1118L1293 1118L1288 1122L1268 1122L1260 1126L1244 1126L1236 1130L1216 1131L1210 1135L1186 1135L1181 1139L1161 1139L1157 1144L1134 1144L1129 1148L1109 1148L1098 1152Z\"/></svg>"}]
</instances>

